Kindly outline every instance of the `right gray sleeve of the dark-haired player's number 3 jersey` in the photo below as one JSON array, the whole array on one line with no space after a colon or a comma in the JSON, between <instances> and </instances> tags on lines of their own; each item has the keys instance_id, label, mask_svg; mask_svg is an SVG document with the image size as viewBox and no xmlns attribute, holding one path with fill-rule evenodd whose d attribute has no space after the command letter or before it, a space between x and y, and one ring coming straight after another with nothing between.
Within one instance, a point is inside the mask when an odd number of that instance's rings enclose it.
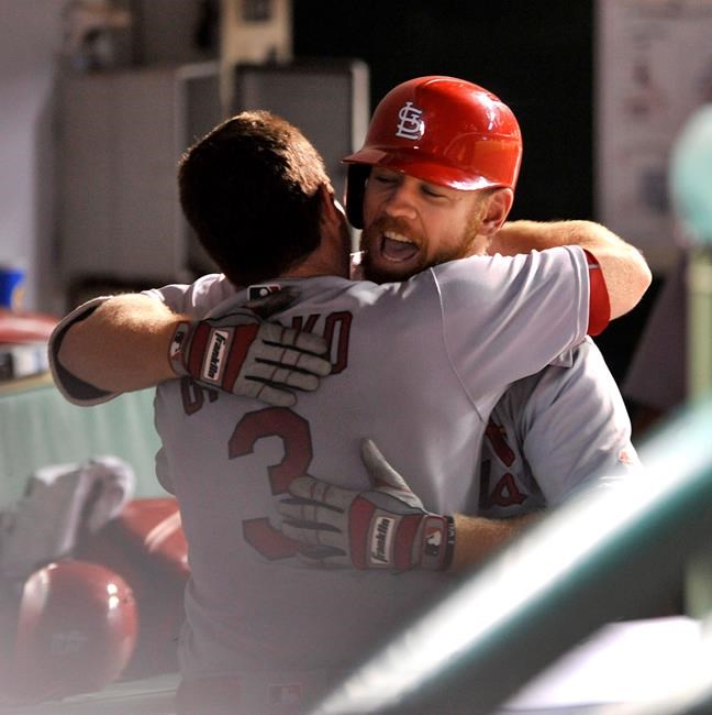
<instances>
[{"instance_id":1,"label":"right gray sleeve of the dark-haired player's number 3 jersey","mask_svg":"<svg viewBox=\"0 0 712 715\"><path fill-rule=\"evenodd\" d=\"M483 386L501 391L586 336L589 275L578 246L514 258L475 256L437 266L433 275L450 364L483 411L476 396Z\"/></svg>"}]
</instances>

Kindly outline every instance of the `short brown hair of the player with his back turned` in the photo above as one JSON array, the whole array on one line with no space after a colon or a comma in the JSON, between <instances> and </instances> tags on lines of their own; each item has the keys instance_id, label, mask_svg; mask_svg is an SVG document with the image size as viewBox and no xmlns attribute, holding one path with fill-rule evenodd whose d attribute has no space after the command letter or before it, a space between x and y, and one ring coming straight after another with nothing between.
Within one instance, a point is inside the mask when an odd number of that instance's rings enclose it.
<instances>
[{"instance_id":1,"label":"short brown hair of the player with his back turned","mask_svg":"<svg viewBox=\"0 0 712 715\"><path fill-rule=\"evenodd\" d=\"M219 124L178 168L183 213L236 286L276 277L318 248L321 185L331 189L319 152L267 111Z\"/></svg>"}]
</instances>

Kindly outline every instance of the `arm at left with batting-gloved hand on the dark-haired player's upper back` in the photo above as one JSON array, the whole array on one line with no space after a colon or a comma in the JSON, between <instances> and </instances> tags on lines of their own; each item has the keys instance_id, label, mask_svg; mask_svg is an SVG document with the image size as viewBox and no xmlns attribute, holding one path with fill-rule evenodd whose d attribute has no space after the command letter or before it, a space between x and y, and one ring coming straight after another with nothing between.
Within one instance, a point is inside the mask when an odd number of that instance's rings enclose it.
<instances>
[{"instance_id":1,"label":"arm at left with batting-gloved hand on the dark-haired player's upper back","mask_svg":"<svg viewBox=\"0 0 712 715\"><path fill-rule=\"evenodd\" d=\"M173 312L160 300L132 294L91 302L55 330L53 372L65 396L96 404L118 393L190 376L212 389L290 406L331 373L321 336L260 319L291 304L279 292L233 306L207 320Z\"/></svg>"}]
</instances>

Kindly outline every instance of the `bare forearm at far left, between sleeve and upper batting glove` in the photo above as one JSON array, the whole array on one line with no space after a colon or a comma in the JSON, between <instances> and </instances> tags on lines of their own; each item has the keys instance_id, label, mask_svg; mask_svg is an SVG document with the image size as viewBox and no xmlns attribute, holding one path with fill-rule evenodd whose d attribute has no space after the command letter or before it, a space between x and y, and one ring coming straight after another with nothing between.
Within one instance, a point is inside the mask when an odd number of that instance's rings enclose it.
<instances>
[{"instance_id":1,"label":"bare forearm at far left, between sleeve and upper batting glove","mask_svg":"<svg viewBox=\"0 0 712 715\"><path fill-rule=\"evenodd\" d=\"M67 330L57 359L71 374L101 389L152 387L176 376L168 349L180 319L154 298L116 296Z\"/></svg>"}]
</instances>

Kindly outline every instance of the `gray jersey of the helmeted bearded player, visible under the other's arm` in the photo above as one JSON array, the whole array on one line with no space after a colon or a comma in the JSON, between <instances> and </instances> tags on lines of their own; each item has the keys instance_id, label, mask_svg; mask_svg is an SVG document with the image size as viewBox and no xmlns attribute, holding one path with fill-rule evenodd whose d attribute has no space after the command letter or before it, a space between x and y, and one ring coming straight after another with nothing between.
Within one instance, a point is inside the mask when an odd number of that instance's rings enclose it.
<instances>
[{"instance_id":1,"label":"gray jersey of the helmeted bearded player, visible under the other's arm","mask_svg":"<svg viewBox=\"0 0 712 715\"><path fill-rule=\"evenodd\" d=\"M637 472L631 420L590 338L518 380L494 406L482 442L477 514L556 506L597 476Z\"/></svg>"}]
</instances>

